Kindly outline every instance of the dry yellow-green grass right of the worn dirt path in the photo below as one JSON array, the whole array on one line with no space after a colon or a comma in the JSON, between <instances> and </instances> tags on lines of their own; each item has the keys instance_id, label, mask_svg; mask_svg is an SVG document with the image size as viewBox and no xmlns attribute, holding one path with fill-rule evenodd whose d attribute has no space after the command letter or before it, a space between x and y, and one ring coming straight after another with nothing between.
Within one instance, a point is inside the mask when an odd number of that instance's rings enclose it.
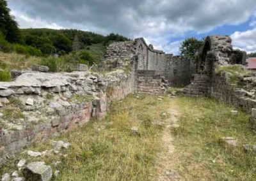
<instances>
[{"instance_id":1,"label":"dry yellow-green grass right of the worn dirt path","mask_svg":"<svg viewBox=\"0 0 256 181\"><path fill-rule=\"evenodd\" d=\"M236 109L207 98L178 98L182 112L175 135L173 166L184 180L255 180L255 154L246 153L243 144L256 144L249 117ZM221 143L232 136L239 147Z\"/></svg>"}]
</instances>

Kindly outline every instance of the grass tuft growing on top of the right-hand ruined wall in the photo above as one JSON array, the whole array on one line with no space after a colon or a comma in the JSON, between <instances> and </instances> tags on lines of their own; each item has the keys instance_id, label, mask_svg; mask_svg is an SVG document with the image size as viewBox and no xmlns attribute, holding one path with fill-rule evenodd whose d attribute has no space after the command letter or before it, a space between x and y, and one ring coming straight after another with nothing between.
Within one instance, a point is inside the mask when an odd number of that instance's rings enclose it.
<instances>
[{"instance_id":1,"label":"grass tuft growing on top of the right-hand ruined wall","mask_svg":"<svg viewBox=\"0 0 256 181\"><path fill-rule=\"evenodd\" d=\"M218 69L216 69L216 74L220 76L221 72L230 73L229 82L234 84L237 84L239 76L249 76L252 73L241 65L220 66Z\"/></svg>"}]
</instances>

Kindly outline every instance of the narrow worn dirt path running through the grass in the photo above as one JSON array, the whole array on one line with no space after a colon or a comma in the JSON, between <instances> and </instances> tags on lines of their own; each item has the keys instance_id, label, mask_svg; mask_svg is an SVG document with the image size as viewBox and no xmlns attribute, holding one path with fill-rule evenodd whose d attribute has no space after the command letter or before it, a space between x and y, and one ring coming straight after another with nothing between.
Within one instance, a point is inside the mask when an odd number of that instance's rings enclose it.
<instances>
[{"instance_id":1,"label":"narrow worn dirt path running through the grass","mask_svg":"<svg viewBox=\"0 0 256 181\"><path fill-rule=\"evenodd\" d=\"M173 170L173 152L175 147L172 143L172 128L179 127L178 118L180 115L179 105L175 99L170 101L170 108L168 112L166 112L169 116L168 119L164 121L164 130L163 136L161 138L163 151L159 154L159 165L157 174L159 175L158 180L178 180L179 175L177 175L176 171Z\"/></svg>"}]
</instances>

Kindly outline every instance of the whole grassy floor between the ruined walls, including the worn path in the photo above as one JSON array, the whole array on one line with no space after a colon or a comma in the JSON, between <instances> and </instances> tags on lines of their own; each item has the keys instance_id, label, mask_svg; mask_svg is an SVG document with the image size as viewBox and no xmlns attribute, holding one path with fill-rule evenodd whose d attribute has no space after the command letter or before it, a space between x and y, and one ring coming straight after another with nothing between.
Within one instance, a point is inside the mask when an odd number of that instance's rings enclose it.
<instances>
[{"instance_id":1,"label":"whole grassy floor between the ruined walls, including the worn path","mask_svg":"<svg viewBox=\"0 0 256 181\"><path fill-rule=\"evenodd\" d=\"M25 158L60 170L54 180L255 180L255 154L243 144L255 144L256 134L248 115L234 116L234 109L207 98L130 95L113 103L104 120L52 138L70 142L68 150L37 158L26 150L0 173ZM239 146L227 147L223 136ZM28 150L49 150L52 140Z\"/></svg>"}]
</instances>

